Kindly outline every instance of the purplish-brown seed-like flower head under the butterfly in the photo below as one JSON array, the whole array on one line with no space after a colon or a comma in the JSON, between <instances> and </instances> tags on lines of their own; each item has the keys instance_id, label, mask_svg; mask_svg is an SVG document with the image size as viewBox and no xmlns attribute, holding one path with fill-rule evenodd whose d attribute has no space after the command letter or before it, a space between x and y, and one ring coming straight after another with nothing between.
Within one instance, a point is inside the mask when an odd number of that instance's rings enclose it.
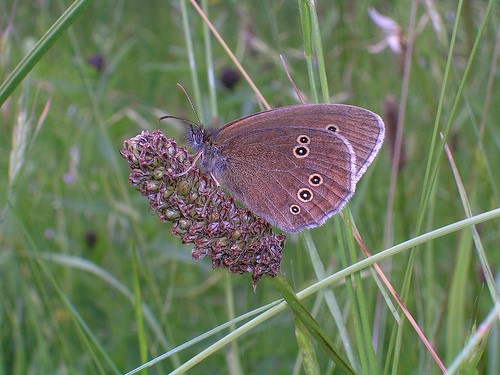
<instances>
[{"instance_id":1,"label":"purplish-brown seed-like flower head under the butterfly","mask_svg":"<svg viewBox=\"0 0 500 375\"><path fill-rule=\"evenodd\" d=\"M126 140L120 154L130 165L130 184L161 221L173 223L182 243L194 244L194 259L208 256L214 268L251 273L254 289L263 277L278 275L285 235L238 207L174 139L143 131Z\"/></svg>"}]
</instances>

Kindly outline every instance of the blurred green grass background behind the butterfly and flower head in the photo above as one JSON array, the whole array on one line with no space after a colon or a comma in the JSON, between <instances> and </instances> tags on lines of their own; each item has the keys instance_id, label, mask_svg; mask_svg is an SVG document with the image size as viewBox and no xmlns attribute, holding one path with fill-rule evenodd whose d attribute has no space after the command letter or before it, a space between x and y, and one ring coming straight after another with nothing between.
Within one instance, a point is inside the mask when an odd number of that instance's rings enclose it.
<instances>
[{"instance_id":1,"label":"blurred green grass background behind the butterfly and flower head","mask_svg":"<svg viewBox=\"0 0 500 375\"><path fill-rule=\"evenodd\" d=\"M500 372L498 286L490 278L488 287L484 276L490 268L498 279L500 265L498 4L419 3L411 31L410 1L320 0L320 33L311 35L300 1L201 3L273 107L297 103L280 54L308 102L324 101L327 89L331 102L382 116L387 96L406 103L406 164L394 194L386 141L349 204L372 253L465 219L467 205L471 216L496 210L477 232L465 225L436 239L429 235L423 245L379 264L446 366L456 360L454 371L461 373ZM54 44L30 60L36 66L25 68L18 86L7 77L70 2L0 4L0 374L124 373L179 349L147 370L163 374L182 364L191 368L188 361L205 348L208 355L195 359L190 373L340 373L287 308L232 339L230 332L247 321L233 319L265 310L282 297L279 289L264 280L254 293L249 275L192 260L191 248L171 236L170 225L128 185L128 166L118 154L123 140L160 128L182 143L183 129L157 119L194 119L177 82L205 124L261 109L246 82L232 90L220 83L222 73L234 69L222 47L189 2L75 4L88 6L73 14L66 31L57 27ZM369 7L399 24L405 45L415 34L408 80L402 56L368 52L385 35ZM320 43L324 60L309 60L304 40ZM96 54L105 60L102 71L88 63ZM441 155L439 138L432 143L436 129L448 126L463 184ZM433 170L436 179L427 179ZM364 258L358 248L354 257L340 255L348 252L349 232L336 218L288 237L282 272L296 292L318 285L319 264L329 276ZM370 268L355 275L347 285L340 277L302 299L341 353L346 349L335 321L344 322L351 366L365 373L440 373L408 322L398 325ZM333 294L337 314L327 307ZM467 346L483 322L478 344ZM229 344L216 344L219 339Z\"/></svg>"}]
</instances>

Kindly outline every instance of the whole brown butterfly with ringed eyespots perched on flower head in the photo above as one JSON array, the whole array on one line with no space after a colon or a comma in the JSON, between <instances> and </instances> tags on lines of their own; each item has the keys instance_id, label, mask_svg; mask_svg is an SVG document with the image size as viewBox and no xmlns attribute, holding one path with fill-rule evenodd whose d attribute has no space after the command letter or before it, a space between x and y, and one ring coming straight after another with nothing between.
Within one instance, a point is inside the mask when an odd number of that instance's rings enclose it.
<instances>
[{"instance_id":1,"label":"whole brown butterfly with ringed eyespots perched on flower head","mask_svg":"<svg viewBox=\"0 0 500 375\"><path fill-rule=\"evenodd\" d=\"M192 127L201 168L285 232L323 224L354 194L384 137L376 114L340 104L280 107L219 131Z\"/></svg>"}]
</instances>

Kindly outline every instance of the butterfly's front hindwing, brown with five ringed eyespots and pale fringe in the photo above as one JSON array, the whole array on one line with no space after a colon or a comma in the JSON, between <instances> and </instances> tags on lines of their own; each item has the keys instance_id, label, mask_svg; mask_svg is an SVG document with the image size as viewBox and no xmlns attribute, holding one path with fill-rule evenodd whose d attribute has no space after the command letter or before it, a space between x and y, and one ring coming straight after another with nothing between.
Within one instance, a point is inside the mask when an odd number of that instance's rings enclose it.
<instances>
[{"instance_id":1,"label":"butterfly's front hindwing, brown with five ringed eyespots and pale fringe","mask_svg":"<svg viewBox=\"0 0 500 375\"><path fill-rule=\"evenodd\" d=\"M247 121L248 120L248 121ZM245 118L224 127L215 144L224 159L217 180L255 214L285 232L323 224L354 193L355 156L340 134L289 120ZM250 129L251 128L251 129ZM222 165L222 164L221 164Z\"/></svg>"}]
</instances>

